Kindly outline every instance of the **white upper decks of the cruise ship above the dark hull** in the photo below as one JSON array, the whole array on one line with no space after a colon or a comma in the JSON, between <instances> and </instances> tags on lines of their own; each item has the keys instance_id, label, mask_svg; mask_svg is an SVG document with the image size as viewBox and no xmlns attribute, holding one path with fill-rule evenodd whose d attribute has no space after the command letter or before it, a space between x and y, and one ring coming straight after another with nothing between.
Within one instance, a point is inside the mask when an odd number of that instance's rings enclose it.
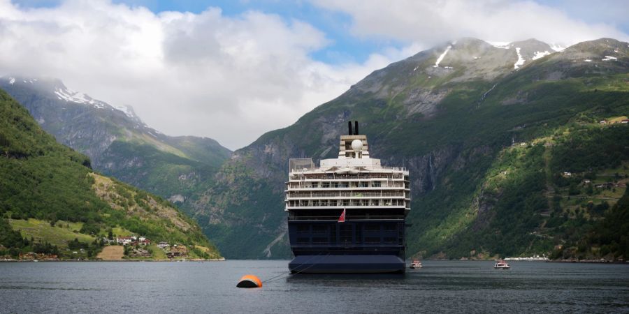
<instances>
[{"instance_id":1,"label":"white upper decks of the cruise ship above the dark hull","mask_svg":"<svg viewBox=\"0 0 629 314\"><path fill-rule=\"evenodd\" d=\"M290 160L287 211L410 210L408 170L382 167L379 159L370 158L366 135L341 135L339 144L338 157L321 160L320 167L312 158Z\"/></svg>"}]
</instances>

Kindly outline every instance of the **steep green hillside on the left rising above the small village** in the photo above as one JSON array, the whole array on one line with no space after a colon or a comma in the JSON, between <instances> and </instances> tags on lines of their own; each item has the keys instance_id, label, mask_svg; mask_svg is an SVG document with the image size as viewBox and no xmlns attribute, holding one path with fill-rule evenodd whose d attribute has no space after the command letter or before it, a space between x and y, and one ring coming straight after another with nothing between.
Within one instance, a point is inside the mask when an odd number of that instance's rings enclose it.
<instances>
[{"instance_id":1,"label":"steep green hillside on the left rising above the small village","mask_svg":"<svg viewBox=\"0 0 629 314\"><path fill-rule=\"evenodd\" d=\"M59 248L85 248L93 257L102 248L96 239L113 232L185 244L193 247L191 257L219 257L194 220L160 197L94 172L87 156L57 143L1 90L0 153L0 255L55 251L75 258Z\"/></svg>"}]
</instances>

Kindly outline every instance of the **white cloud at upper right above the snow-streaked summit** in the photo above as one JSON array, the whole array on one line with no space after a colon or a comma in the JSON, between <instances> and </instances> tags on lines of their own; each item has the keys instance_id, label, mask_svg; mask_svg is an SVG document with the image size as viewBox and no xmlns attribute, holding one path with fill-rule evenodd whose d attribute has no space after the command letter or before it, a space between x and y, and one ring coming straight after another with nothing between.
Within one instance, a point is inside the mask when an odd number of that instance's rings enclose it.
<instances>
[{"instance_id":1,"label":"white cloud at upper right above the snow-streaked summit","mask_svg":"<svg viewBox=\"0 0 629 314\"><path fill-rule=\"evenodd\" d=\"M565 6L598 6L591 1L577 2L568 1ZM356 36L396 38L424 45L462 37L494 41L537 38L565 45L600 37L629 38L612 26L613 22L588 24L568 16L563 10L534 1L314 0L314 3L349 14ZM626 7L622 3L620 6ZM601 20L605 20L604 17L601 16Z\"/></svg>"}]
</instances>

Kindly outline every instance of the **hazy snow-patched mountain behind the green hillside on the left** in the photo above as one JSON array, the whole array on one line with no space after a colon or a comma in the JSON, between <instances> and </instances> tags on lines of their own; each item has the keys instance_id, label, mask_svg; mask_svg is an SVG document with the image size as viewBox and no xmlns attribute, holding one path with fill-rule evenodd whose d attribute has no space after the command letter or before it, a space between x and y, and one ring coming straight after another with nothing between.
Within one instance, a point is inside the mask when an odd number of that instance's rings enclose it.
<instances>
[{"instance_id":1,"label":"hazy snow-patched mountain behind the green hillside on the left","mask_svg":"<svg viewBox=\"0 0 629 314\"><path fill-rule=\"evenodd\" d=\"M6 90L59 142L89 156L108 176L181 207L208 188L231 151L207 137L172 137L146 126L130 106L113 106L61 80L6 76Z\"/></svg>"}]
</instances>

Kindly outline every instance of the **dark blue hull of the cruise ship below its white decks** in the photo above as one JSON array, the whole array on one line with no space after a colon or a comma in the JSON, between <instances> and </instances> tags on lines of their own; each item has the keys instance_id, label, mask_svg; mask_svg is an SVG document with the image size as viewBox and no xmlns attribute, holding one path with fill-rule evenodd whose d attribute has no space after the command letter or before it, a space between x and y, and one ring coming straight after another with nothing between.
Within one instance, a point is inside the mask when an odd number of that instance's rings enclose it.
<instances>
[{"instance_id":1,"label":"dark blue hull of the cruise ship below its white decks","mask_svg":"<svg viewBox=\"0 0 629 314\"><path fill-rule=\"evenodd\" d=\"M293 274L405 271L404 219L290 220Z\"/></svg>"}]
</instances>

